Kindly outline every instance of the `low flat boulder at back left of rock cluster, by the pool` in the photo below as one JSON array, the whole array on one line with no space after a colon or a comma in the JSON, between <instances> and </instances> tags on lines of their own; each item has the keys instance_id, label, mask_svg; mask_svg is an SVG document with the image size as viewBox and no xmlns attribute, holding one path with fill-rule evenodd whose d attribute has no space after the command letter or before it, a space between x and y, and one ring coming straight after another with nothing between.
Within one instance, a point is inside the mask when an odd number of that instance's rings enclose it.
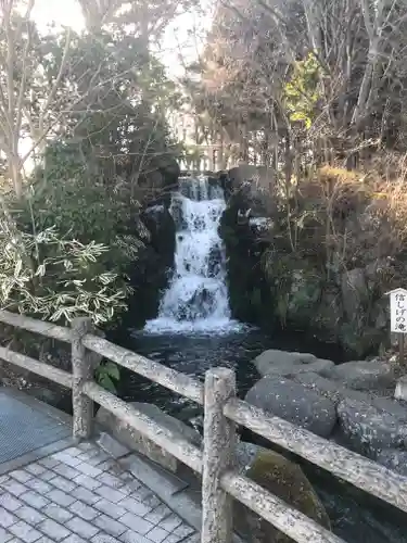
<instances>
[{"instance_id":1,"label":"low flat boulder at back left of rock cluster, by the pool","mask_svg":"<svg viewBox=\"0 0 407 543\"><path fill-rule=\"evenodd\" d=\"M289 353L270 349L256 356L254 365L262 377L266 375L291 375L309 372L319 374L334 367L331 361L323 361L306 353Z\"/></svg>"}]
</instances>

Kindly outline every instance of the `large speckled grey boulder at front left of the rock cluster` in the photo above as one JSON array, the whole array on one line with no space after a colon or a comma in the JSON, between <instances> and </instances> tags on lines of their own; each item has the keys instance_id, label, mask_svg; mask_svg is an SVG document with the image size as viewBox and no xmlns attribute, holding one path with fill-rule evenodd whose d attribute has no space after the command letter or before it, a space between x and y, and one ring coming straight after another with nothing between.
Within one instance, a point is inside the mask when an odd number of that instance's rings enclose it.
<instances>
[{"instance_id":1,"label":"large speckled grey boulder at front left of the rock cluster","mask_svg":"<svg viewBox=\"0 0 407 543\"><path fill-rule=\"evenodd\" d=\"M245 400L322 438L331 434L336 422L333 402L283 377L264 377L250 389Z\"/></svg>"}]
</instances>

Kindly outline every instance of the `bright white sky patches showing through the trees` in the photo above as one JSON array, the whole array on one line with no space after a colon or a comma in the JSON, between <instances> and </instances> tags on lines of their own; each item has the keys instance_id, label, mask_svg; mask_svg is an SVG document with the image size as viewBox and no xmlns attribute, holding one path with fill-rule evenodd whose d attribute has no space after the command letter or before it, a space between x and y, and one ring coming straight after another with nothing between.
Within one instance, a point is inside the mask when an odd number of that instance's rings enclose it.
<instances>
[{"instance_id":1,"label":"bright white sky patches showing through the trees","mask_svg":"<svg viewBox=\"0 0 407 543\"><path fill-rule=\"evenodd\" d=\"M183 64L190 63L200 54L206 31L212 23L214 0L201 0L201 9L178 16L167 28L160 59L167 68L168 76L177 79L183 75ZM80 31L84 18L76 0L36 0L33 17L41 28L50 22L71 26Z\"/></svg>"}]
</instances>

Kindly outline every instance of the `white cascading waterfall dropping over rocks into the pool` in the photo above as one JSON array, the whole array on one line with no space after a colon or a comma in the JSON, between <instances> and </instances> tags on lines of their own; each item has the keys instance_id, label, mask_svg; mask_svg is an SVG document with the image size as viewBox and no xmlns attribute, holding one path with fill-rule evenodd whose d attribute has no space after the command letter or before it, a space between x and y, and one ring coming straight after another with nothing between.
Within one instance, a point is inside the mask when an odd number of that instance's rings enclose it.
<instances>
[{"instance_id":1,"label":"white cascading waterfall dropping over rocks into the pool","mask_svg":"<svg viewBox=\"0 0 407 543\"><path fill-rule=\"evenodd\" d=\"M231 320L226 283L225 249L218 233L226 207L221 187L206 177L182 177L173 193L176 223L174 275L163 295L158 317L148 332L225 332Z\"/></svg>"}]
</instances>

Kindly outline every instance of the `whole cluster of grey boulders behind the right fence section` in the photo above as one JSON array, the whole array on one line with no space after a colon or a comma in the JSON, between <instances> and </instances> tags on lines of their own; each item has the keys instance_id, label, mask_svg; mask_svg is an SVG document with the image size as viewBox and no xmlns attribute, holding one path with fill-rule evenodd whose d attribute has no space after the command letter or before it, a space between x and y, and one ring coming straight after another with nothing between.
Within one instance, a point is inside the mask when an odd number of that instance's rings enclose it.
<instances>
[{"instance_id":1,"label":"whole cluster of grey boulders behind the right fence section","mask_svg":"<svg viewBox=\"0 0 407 543\"><path fill-rule=\"evenodd\" d=\"M385 397L397 379L390 363L265 351L254 365L264 377L249 403L407 475L407 405Z\"/></svg>"}]
</instances>

